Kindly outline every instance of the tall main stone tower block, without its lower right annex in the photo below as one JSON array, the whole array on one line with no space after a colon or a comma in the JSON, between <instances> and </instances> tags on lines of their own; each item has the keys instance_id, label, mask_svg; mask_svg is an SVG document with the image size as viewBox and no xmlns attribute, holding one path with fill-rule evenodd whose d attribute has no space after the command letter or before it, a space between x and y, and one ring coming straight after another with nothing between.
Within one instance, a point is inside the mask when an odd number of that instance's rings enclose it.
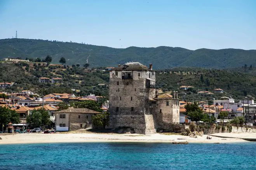
<instances>
[{"instance_id":1,"label":"tall main stone tower block, without its lower right annex","mask_svg":"<svg viewBox=\"0 0 256 170\"><path fill-rule=\"evenodd\" d=\"M155 71L139 62L110 70L109 128L131 127L138 134L156 132L147 103L155 98Z\"/></svg>"}]
</instances>

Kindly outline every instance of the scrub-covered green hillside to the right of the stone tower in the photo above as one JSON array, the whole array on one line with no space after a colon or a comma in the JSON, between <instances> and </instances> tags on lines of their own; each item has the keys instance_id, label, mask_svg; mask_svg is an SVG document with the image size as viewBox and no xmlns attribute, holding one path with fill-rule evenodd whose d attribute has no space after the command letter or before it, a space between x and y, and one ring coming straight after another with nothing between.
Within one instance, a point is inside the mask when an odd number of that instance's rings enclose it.
<instances>
[{"instance_id":1,"label":"scrub-covered green hillside to the right of the stone tower","mask_svg":"<svg viewBox=\"0 0 256 170\"><path fill-rule=\"evenodd\" d=\"M201 68L174 68L162 70L157 74L157 88L163 91L176 90L182 100L201 101L213 100L221 96L228 96L240 100L247 95L256 96L256 69L243 67L232 69L201 69ZM193 86L189 90L180 90L180 86ZM197 94L199 91L210 91L221 88L223 94Z\"/></svg>"}]
</instances>

